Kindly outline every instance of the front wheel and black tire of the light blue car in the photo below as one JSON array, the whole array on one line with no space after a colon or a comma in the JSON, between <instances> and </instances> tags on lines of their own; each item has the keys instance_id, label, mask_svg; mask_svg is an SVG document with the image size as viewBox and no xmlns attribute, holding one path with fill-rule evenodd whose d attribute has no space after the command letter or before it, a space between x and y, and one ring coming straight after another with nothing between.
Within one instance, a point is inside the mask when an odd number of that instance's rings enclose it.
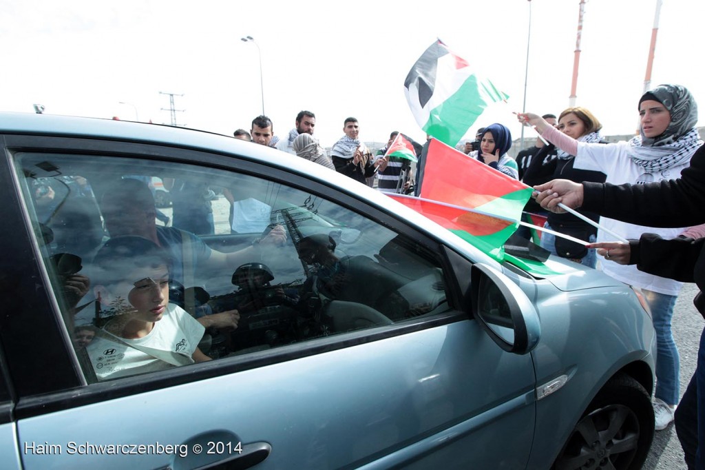
<instances>
[{"instance_id":1,"label":"front wheel and black tire of the light blue car","mask_svg":"<svg viewBox=\"0 0 705 470\"><path fill-rule=\"evenodd\" d=\"M553 469L641 469L653 439L649 393L628 375L616 375L589 404Z\"/></svg>"}]
</instances>

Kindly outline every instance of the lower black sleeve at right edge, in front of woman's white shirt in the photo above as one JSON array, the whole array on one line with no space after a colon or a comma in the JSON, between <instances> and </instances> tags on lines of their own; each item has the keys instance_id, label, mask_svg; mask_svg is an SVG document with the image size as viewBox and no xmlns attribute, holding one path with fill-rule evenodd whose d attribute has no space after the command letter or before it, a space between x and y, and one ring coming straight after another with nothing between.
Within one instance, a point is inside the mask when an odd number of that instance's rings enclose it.
<instances>
[{"instance_id":1,"label":"lower black sleeve at right edge, in front of woman's white shirt","mask_svg":"<svg viewBox=\"0 0 705 470\"><path fill-rule=\"evenodd\" d=\"M642 234L639 243L630 243L630 246L630 264L636 263L639 271L680 282L695 282L695 265L705 239L664 240L656 234Z\"/></svg>"}]
</instances>

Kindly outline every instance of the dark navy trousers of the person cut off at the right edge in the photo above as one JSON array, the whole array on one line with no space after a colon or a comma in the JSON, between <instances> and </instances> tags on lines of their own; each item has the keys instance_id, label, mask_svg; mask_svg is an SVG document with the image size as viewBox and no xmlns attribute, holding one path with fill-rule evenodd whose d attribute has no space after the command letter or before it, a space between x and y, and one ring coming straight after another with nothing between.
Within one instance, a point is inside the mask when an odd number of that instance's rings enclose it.
<instances>
[{"instance_id":1,"label":"dark navy trousers of the person cut off at the right edge","mask_svg":"<svg viewBox=\"0 0 705 470\"><path fill-rule=\"evenodd\" d=\"M700 335L695 373L675 409L675 432L688 469L705 470L705 330Z\"/></svg>"}]
</instances>

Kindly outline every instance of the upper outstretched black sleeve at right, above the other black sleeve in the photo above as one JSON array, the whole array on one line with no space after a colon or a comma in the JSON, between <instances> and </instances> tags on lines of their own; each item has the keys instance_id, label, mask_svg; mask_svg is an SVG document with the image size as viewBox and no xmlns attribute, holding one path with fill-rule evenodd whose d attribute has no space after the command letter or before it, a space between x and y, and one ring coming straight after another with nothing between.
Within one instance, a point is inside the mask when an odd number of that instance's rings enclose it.
<instances>
[{"instance_id":1,"label":"upper outstretched black sleeve at right, above the other black sleeve","mask_svg":"<svg viewBox=\"0 0 705 470\"><path fill-rule=\"evenodd\" d=\"M690 227L705 222L705 146L680 179L649 184L584 182L582 209L648 227Z\"/></svg>"}]
</instances>

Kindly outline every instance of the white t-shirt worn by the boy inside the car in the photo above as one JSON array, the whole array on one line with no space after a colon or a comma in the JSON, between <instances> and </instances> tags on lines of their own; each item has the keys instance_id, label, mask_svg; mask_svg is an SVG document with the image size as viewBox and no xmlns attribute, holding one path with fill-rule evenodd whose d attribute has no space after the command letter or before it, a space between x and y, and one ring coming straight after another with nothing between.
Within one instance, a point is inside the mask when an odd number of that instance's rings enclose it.
<instances>
[{"instance_id":1,"label":"white t-shirt worn by the boy inside the car","mask_svg":"<svg viewBox=\"0 0 705 470\"><path fill-rule=\"evenodd\" d=\"M147 336L125 339L101 330L86 351L99 380L154 372L192 364L204 330L183 308L169 303Z\"/></svg>"}]
</instances>

